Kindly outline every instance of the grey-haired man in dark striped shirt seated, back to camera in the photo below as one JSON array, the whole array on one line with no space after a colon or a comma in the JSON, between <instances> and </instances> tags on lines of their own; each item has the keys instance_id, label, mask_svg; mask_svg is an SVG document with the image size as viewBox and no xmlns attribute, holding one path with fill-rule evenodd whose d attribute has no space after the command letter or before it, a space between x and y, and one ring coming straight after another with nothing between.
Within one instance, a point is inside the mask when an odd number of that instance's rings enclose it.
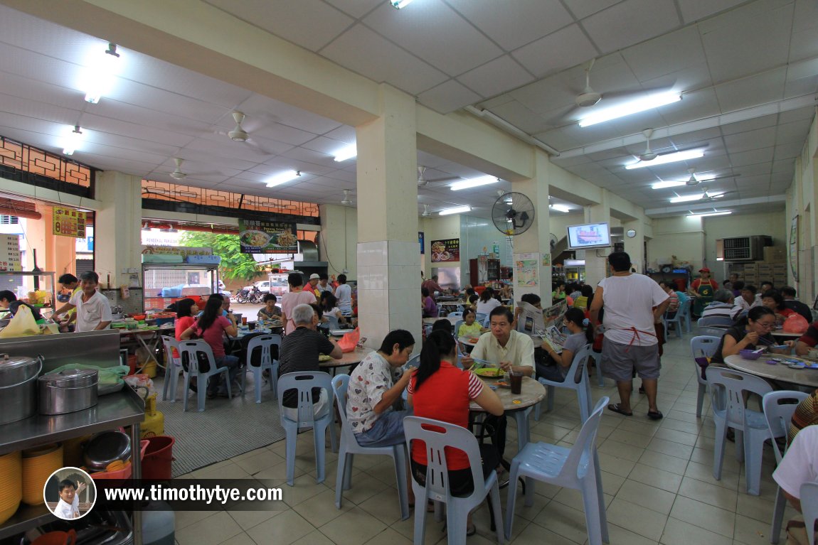
<instances>
[{"instance_id":1,"label":"grey-haired man in dark striped shirt seated, back to camera","mask_svg":"<svg viewBox=\"0 0 818 545\"><path fill-rule=\"evenodd\" d=\"M302 371L321 371L318 367L318 355L330 355L335 360L340 360L344 355L340 346L316 331L318 315L312 306L302 303L293 309L293 321L295 330L281 339L279 346L279 367L278 376L286 373L297 373ZM284 395L282 404L285 409L285 416L292 420L298 420L298 392L288 390L279 395ZM323 416L331 408L327 401L327 392L321 388L312 389L312 406L316 417Z\"/></svg>"}]
</instances>

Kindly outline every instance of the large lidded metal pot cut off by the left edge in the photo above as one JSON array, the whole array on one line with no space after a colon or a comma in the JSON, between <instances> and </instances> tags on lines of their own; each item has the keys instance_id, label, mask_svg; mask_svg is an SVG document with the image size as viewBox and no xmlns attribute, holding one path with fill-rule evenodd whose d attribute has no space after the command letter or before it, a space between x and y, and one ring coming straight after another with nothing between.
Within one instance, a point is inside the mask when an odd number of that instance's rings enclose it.
<instances>
[{"instance_id":1,"label":"large lidded metal pot cut off by the left edge","mask_svg":"<svg viewBox=\"0 0 818 545\"><path fill-rule=\"evenodd\" d=\"M37 375L43 356L27 358L0 354L0 425L29 418L37 413Z\"/></svg>"}]
</instances>

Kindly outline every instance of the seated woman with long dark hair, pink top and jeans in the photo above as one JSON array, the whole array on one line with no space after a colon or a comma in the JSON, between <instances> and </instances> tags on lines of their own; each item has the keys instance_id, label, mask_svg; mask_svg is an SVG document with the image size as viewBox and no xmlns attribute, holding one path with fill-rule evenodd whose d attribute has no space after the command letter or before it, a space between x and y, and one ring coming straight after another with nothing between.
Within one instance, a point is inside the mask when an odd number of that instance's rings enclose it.
<instances>
[{"instance_id":1,"label":"seated woman with long dark hair, pink top and jeans","mask_svg":"<svg viewBox=\"0 0 818 545\"><path fill-rule=\"evenodd\" d=\"M205 310L195 324L185 329L180 335L180 340L187 341L194 335L204 339L213 351L216 360L216 367L227 367L230 369L229 380L231 386L238 391L236 376L239 373L239 359L235 355L227 355L224 351L224 333L233 337L238 333L236 328L236 317L229 313L227 317L222 316L222 300L218 297L210 297L205 305ZM207 386L207 396L212 399L216 395L227 397L227 384L222 383L222 374L210 377Z\"/></svg>"}]
</instances>

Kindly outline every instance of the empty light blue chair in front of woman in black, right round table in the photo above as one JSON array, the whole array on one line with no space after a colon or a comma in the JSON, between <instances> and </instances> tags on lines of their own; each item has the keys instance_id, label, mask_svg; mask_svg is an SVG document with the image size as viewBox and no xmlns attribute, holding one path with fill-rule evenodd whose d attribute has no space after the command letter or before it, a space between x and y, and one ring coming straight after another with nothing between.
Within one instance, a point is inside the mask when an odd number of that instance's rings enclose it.
<instances>
[{"instance_id":1,"label":"empty light blue chair in front of woman in black, right round table","mask_svg":"<svg viewBox=\"0 0 818 545\"><path fill-rule=\"evenodd\" d=\"M721 480L727 428L732 427L735 430L735 458L739 462L744 461L747 494L757 496L761 489L764 441L770 438L770 428L767 427L763 413L744 406L744 392L753 392L763 397L772 391L772 386L762 378L723 367L711 365L706 373L713 421L716 422L713 477Z\"/></svg>"}]
</instances>

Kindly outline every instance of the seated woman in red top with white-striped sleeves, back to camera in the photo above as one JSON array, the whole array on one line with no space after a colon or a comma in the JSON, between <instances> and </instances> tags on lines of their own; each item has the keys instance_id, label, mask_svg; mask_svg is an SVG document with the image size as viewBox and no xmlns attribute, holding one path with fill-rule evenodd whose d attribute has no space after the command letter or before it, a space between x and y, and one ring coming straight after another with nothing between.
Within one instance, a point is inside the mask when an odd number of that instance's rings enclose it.
<instances>
[{"instance_id":1,"label":"seated woman in red top with white-striped sleeves, back to camera","mask_svg":"<svg viewBox=\"0 0 818 545\"><path fill-rule=\"evenodd\" d=\"M487 413L500 416L503 404L497 394L485 387L474 373L457 369L456 359L452 335L435 331L426 338L420 351L420 366L412 373L407 390L407 404L414 409L415 416L468 427L471 401ZM480 444L479 447L485 477L497 467L500 457L492 444ZM471 462L477 463L477 460ZM411 445L411 475L420 485L426 484L426 463L425 444L415 441ZM460 450L447 450L446 463L452 494L470 494L474 490L474 480L469 458ZM466 528L466 535L474 534L471 515Z\"/></svg>"}]
</instances>

